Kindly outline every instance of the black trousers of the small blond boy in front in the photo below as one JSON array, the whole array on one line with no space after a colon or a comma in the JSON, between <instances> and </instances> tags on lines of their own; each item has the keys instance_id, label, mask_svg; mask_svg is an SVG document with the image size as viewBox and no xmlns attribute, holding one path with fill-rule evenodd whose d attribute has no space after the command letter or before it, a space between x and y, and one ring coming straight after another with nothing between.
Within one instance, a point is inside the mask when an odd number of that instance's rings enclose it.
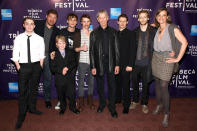
<instances>
[{"instance_id":1,"label":"black trousers of the small blond boy in front","mask_svg":"<svg viewBox=\"0 0 197 131\"><path fill-rule=\"evenodd\" d=\"M76 101L75 101L75 77L70 76L65 79L65 81L61 82L61 85L56 84L56 89L58 93L58 99L60 101L60 108L62 110L66 110L67 103L66 97L69 99L69 109L74 110L76 108Z\"/></svg>"}]
</instances>

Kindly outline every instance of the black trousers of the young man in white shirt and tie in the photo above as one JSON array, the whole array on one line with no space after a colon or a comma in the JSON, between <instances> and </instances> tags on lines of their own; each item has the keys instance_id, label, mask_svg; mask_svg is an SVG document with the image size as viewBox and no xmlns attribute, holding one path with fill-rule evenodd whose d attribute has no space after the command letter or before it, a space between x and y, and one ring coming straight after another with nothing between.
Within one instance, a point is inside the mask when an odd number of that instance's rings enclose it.
<instances>
[{"instance_id":1,"label":"black trousers of the young man in white shirt and tie","mask_svg":"<svg viewBox=\"0 0 197 131\"><path fill-rule=\"evenodd\" d=\"M19 70L19 119L27 109L36 110L38 85L41 74L40 62L20 64Z\"/></svg>"}]
</instances>

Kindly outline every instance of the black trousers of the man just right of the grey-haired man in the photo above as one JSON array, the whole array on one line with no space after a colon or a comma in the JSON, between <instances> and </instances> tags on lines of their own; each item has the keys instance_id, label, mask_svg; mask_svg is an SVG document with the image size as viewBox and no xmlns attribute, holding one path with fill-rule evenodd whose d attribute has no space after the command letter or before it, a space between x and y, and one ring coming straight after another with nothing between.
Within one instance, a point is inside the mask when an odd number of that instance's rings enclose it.
<instances>
[{"instance_id":1,"label":"black trousers of the man just right of the grey-haired man","mask_svg":"<svg viewBox=\"0 0 197 131\"><path fill-rule=\"evenodd\" d=\"M131 103L130 98L130 73L125 69L121 69L120 73L116 76L116 101L123 100L124 108L129 108Z\"/></svg>"}]
</instances>

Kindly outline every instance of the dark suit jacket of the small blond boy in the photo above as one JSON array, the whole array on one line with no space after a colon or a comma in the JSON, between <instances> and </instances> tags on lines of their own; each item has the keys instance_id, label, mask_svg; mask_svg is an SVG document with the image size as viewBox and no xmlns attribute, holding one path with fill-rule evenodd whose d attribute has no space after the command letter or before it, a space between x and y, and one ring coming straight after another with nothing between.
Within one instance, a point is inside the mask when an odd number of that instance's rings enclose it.
<instances>
[{"instance_id":1,"label":"dark suit jacket of the small blond boy","mask_svg":"<svg viewBox=\"0 0 197 131\"><path fill-rule=\"evenodd\" d=\"M77 64L73 57L73 52L66 49L66 56L63 58L59 50L55 51L54 60L50 61L51 72L55 74L55 85L64 85L65 82L69 81L70 74ZM62 75L62 70L64 67L68 68L66 75Z\"/></svg>"}]
</instances>

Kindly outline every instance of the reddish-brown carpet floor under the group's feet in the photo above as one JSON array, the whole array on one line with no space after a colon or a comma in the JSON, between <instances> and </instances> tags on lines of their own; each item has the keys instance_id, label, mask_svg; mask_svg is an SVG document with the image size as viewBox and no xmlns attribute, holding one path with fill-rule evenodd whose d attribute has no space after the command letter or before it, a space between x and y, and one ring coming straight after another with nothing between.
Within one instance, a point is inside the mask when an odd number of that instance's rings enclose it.
<instances>
[{"instance_id":1,"label":"reddish-brown carpet floor under the group's feet","mask_svg":"<svg viewBox=\"0 0 197 131\"><path fill-rule=\"evenodd\" d=\"M53 106L57 100L53 100ZM95 103L98 105L98 101ZM117 105L118 118L112 118L108 109L103 113L90 110L88 107L79 115L66 110L63 116L58 111L46 109L43 100L38 100L37 108L43 115L36 116L27 113L20 131L197 131L197 98L171 99L170 125L168 128L161 126L163 114L153 116L152 110L156 104L155 99L150 99L150 112L145 115L141 106L122 114L122 105ZM17 118L17 101L0 101L0 131L14 131Z\"/></svg>"}]
</instances>

